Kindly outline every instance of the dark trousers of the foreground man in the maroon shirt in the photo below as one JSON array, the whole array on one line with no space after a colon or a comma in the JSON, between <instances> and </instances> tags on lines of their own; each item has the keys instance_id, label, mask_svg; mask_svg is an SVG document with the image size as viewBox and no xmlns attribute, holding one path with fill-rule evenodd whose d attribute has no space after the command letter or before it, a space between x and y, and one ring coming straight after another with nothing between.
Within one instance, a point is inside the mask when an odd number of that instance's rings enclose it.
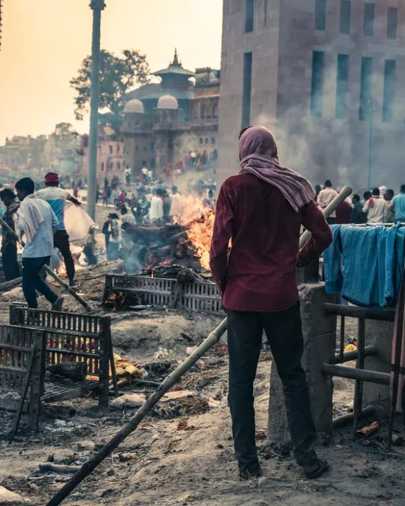
<instances>
[{"instance_id":1,"label":"dark trousers of the foreground man in the maroon shirt","mask_svg":"<svg viewBox=\"0 0 405 506\"><path fill-rule=\"evenodd\" d=\"M288 430L295 458L301 466L316 462L313 425L307 379L302 369L304 349L300 303L286 311L249 313L227 311L227 339L230 355L228 401L232 416L234 448L241 471L258 466L255 443L253 381L261 349L263 329L282 381Z\"/></svg>"}]
</instances>

